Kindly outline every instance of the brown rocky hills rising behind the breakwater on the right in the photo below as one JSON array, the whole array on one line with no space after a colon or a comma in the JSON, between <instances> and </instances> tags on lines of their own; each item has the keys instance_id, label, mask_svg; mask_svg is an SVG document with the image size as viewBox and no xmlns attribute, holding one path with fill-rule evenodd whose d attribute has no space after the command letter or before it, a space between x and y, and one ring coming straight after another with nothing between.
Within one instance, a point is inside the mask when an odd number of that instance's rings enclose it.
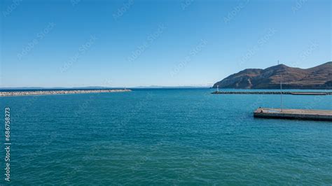
<instances>
[{"instance_id":1,"label":"brown rocky hills rising behind the breakwater on the right","mask_svg":"<svg viewBox=\"0 0 332 186\"><path fill-rule=\"evenodd\" d=\"M332 62L310 69L279 64L268 69L245 69L214 84L219 88L278 89L282 81L285 89L332 89Z\"/></svg>"}]
</instances>

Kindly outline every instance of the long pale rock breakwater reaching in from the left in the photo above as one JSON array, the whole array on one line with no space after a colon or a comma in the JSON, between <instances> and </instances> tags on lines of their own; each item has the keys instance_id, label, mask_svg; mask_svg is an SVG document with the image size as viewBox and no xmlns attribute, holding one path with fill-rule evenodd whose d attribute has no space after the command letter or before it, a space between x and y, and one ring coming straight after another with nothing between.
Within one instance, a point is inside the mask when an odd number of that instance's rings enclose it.
<instances>
[{"instance_id":1,"label":"long pale rock breakwater reaching in from the left","mask_svg":"<svg viewBox=\"0 0 332 186\"><path fill-rule=\"evenodd\" d=\"M13 91L0 92L0 96L32 96L32 95L51 95L51 94L87 94L87 93L106 93L106 92L130 92L131 90L33 90L33 91Z\"/></svg>"}]
</instances>

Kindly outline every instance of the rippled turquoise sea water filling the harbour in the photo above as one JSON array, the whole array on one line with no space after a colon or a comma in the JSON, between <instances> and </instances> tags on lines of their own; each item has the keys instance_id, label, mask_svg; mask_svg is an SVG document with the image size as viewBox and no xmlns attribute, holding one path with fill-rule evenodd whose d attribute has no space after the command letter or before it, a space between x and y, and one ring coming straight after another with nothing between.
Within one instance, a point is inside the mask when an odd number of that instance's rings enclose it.
<instances>
[{"instance_id":1,"label":"rippled turquoise sea water filling the harbour","mask_svg":"<svg viewBox=\"0 0 332 186\"><path fill-rule=\"evenodd\" d=\"M0 97L11 184L332 184L332 122L254 119L280 97L212 91ZM332 109L332 96L284 95L284 107Z\"/></svg>"}]
</instances>

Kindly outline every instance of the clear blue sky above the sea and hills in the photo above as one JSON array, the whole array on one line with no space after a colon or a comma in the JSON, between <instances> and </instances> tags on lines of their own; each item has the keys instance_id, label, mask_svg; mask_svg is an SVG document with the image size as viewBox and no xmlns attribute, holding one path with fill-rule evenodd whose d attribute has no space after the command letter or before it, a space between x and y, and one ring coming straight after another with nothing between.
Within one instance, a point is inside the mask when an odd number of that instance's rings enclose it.
<instances>
[{"instance_id":1,"label":"clear blue sky above the sea and hills","mask_svg":"<svg viewBox=\"0 0 332 186\"><path fill-rule=\"evenodd\" d=\"M331 61L331 1L1 1L1 87L211 85Z\"/></svg>"}]
</instances>

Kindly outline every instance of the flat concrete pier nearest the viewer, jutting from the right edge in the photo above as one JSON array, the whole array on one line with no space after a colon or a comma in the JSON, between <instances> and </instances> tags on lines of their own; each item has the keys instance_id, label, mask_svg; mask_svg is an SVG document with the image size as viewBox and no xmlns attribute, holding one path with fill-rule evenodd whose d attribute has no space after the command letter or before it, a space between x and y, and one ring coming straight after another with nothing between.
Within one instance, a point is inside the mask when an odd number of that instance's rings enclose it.
<instances>
[{"instance_id":1,"label":"flat concrete pier nearest the viewer, jutting from the right edge","mask_svg":"<svg viewBox=\"0 0 332 186\"><path fill-rule=\"evenodd\" d=\"M254 111L254 117L332 121L332 110L258 108Z\"/></svg>"}]
</instances>

